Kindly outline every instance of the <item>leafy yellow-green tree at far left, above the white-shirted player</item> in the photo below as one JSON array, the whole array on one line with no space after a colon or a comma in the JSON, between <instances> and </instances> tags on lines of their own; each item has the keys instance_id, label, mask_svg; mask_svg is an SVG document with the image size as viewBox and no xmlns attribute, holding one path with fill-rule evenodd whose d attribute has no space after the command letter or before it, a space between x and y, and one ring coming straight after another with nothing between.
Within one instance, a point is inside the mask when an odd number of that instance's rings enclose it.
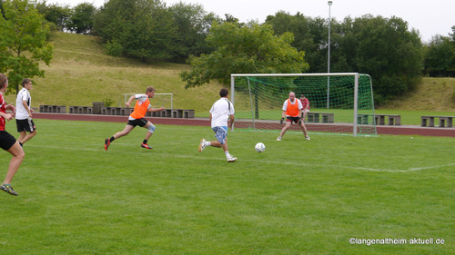
<instances>
[{"instance_id":1,"label":"leafy yellow-green tree at far left, above the white-shirted player","mask_svg":"<svg viewBox=\"0 0 455 255\"><path fill-rule=\"evenodd\" d=\"M49 33L44 18L28 1L3 2L4 15L0 15L0 71L6 73L8 91L19 91L23 78L44 77L40 62L50 64L53 46L45 42Z\"/></svg>"}]
</instances>

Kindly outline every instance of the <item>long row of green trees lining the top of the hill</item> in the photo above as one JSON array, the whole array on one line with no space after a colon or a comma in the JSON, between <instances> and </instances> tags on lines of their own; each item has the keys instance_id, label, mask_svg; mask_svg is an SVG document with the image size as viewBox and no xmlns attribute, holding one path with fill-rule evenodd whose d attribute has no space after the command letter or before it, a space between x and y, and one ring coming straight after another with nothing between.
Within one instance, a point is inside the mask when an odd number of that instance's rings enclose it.
<instances>
[{"instance_id":1,"label":"long row of green trees lining the top of the hill","mask_svg":"<svg viewBox=\"0 0 455 255\"><path fill-rule=\"evenodd\" d=\"M0 0L20 2L27 0ZM202 5L167 6L160 0L108 0L99 8L44 1L35 9L51 28L100 36L108 54L187 61L191 69L181 74L187 87L211 79L227 83L232 73L328 70L329 21L321 17L278 12L264 23L243 24L232 15L207 13ZM412 90L422 74L455 76L455 26L450 37L436 35L429 44L395 16L332 19L330 26L330 72L370 74L377 103Z\"/></svg>"}]
</instances>

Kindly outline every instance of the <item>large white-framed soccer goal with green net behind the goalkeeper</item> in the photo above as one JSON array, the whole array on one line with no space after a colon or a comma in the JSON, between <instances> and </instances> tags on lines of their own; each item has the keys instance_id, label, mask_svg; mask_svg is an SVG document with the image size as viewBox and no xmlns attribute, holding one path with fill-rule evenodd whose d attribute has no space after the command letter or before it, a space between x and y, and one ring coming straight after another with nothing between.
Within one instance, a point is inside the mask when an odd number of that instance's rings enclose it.
<instances>
[{"instance_id":1,"label":"large white-framed soccer goal with green net behind the goalkeeper","mask_svg":"<svg viewBox=\"0 0 455 255\"><path fill-rule=\"evenodd\" d=\"M308 132L377 135L371 77L358 73L231 74L236 128L280 131L289 92L308 98Z\"/></svg>"}]
</instances>

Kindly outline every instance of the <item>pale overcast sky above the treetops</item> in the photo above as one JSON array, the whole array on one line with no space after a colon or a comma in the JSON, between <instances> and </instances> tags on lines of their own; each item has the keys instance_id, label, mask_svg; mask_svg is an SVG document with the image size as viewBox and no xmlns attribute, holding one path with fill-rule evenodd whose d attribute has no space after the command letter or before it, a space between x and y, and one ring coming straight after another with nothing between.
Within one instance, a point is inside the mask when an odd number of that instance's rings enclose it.
<instances>
[{"instance_id":1,"label":"pale overcast sky above the treetops","mask_svg":"<svg viewBox=\"0 0 455 255\"><path fill-rule=\"evenodd\" d=\"M278 11L295 15L300 12L310 17L329 17L327 0L161 0L167 6L178 2L203 5L207 12L213 12L224 18L233 15L240 22L257 20L263 23L268 15ZM39 0L38 0L39 2ZM58 3L75 6L79 3L91 3L96 7L104 5L106 0L47 0L47 4ZM419 30L424 43L432 36L449 36L455 25L455 0L332 0L330 15L341 22L345 17L361 15L393 15L408 22L409 28Z\"/></svg>"}]
</instances>

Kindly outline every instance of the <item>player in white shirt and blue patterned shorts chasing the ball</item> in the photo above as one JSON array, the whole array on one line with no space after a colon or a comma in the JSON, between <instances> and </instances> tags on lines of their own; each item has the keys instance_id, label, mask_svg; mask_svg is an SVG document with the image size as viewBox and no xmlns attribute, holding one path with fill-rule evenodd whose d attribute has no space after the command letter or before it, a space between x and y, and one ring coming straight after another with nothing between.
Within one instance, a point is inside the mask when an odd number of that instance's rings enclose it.
<instances>
[{"instance_id":1,"label":"player in white shirt and blue patterned shorts chasing the ball","mask_svg":"<svg viewBox=\"0 0 455 255\"><path fill-rule=\"evenodd\" d=\"M227 89L221 89L219 91L219 96L221 98L218 99L210 109L210 123L213 132L215 132L215 137L217 137L217 141L207 142L205 139L202 139L199 144L199 152L202 152L207 146L223 148L227 162L235 162L237 161L237 158L229 154L227 148L227 121L230 121L229 126L231 128L235 121L234 104L227 100L227 94Z\"/></svg>"}]
</instances>

